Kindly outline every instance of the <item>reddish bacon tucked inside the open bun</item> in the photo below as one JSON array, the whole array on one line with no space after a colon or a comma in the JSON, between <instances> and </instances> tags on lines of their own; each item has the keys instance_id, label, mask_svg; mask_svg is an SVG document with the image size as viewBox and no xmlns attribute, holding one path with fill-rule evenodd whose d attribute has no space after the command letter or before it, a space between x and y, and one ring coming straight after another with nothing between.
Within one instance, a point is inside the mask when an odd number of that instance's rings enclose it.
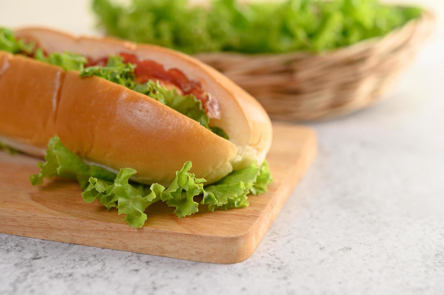
<instances>
[{"instance_id":1,"label":"reddish bacon tucked inside the open bun","mask_svg":"<svg viewBox=\"0 0 444 295\"><path fill-rule=\"evenodd\" d=\"M211 94L202 89L198 81L189 80L178 69L165 70L163 65L152 60L139 60L135 55L128 53L120 53L125 63L133 63L136 65L134 74L137 83L146 83L148 80L157 80L168 89L176 87L181 94L194 94L194 96L202 102L206 114L210 118L220 119L219 102ZM88 66L105 66L108 58L98 60L88 59Z\"/></svg>"}]
</instances>

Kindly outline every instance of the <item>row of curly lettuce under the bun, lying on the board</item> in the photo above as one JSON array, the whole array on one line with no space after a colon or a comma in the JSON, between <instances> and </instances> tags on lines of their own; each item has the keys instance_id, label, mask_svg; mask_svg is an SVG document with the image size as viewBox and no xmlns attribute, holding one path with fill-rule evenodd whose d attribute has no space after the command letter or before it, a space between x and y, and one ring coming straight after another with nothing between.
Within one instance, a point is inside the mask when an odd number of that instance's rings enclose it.
<instances>
[{"instance_id":1,"label":"row of curly lettuce under the bun, lying on the board","mask_svg":"<svg viewBox=\"0 0 444 295\"><path fill-rule=\"evenodd\" d=\"M142 227L147 220L146 208L158 201L175 207L174 213L182 218L198 212L194 197L203 194L201 204L215 209L242 208L249 205L247 194L266 192L271 182L270 169L264 162L261 167L252 164L244 169L228 174L215 185L203 187L205 179L196 178L190 173L191 162L187 161L168 188L157 183L150 187L131 183L129 178L136 173L131 168L120 169L119 174L94 165L87 165L79 156L72 153L55 136L49 140L46 162L39 162L40 173L30 176L32 185L40 185L44 178L67 177L79 181L84 189L83 201L98 200L108 210L117 208L118 214L125 214L125 221L134 228Z\"/></svg>"}]
</instances>

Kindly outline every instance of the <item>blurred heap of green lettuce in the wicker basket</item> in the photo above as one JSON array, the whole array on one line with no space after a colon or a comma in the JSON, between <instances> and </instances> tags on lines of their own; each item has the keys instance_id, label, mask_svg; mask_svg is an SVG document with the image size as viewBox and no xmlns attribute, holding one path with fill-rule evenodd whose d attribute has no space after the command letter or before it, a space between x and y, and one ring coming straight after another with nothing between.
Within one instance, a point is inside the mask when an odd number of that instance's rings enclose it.
<instances>
[{"instance_id":1,"label":"blurred heap of green lettuce in the wicker basket","mask_svg":"<svg viewBox=\"0 0 444 295\"><path fill-rule=\"evenodd\" d=\"M421 15L379 0L94 0L108 34L186 53L326 51L381 36Z\"/></svg>"}]
</instances>

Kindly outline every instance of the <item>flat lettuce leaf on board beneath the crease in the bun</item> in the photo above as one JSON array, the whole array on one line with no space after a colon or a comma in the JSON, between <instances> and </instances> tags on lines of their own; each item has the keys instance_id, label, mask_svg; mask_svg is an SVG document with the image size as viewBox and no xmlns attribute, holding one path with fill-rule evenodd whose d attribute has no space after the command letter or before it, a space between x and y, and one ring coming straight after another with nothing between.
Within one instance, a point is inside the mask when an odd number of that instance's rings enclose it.
<instances>
[{"instance_id":1,"label":"flat lettuce leaf on board beneath the crease in the bun","mask_svg":"<svg viewBox=\"0 0 444 295\"><path fill-rule=\"evenodd\" d=\"M74 178L84 188L90 177L107 181L112 181L115 178L115 174L106 169L87 165L79 156L63 146L58 136L49 140L45 161L45 163L38 162L37 167L40 168L40 172L29 177L32 185L42 184L44 178L60 176Z\"/></svg>"}]
</instances>

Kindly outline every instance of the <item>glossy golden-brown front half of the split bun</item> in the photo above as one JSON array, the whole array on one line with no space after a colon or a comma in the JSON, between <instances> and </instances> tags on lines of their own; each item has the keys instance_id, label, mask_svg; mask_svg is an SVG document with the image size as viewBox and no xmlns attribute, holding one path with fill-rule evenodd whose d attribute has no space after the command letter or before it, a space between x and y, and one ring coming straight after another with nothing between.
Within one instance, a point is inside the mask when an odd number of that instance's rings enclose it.
<instances>
[{"instance_id":1,"label":"glossy golden-brown front half of the split bun","mask_svg":"<svg viewBox=\"0 0 444 295\"><path fill-rule=\"evenodd\" d=\"M0 76L0 134L13 147L43 156L58 134L85 160L134 168L143 183L169 184L188 160L208 181L232 170L233 143L155 99L28 57L0 58L8 63Z\"/></svg>"}]
</instances>

